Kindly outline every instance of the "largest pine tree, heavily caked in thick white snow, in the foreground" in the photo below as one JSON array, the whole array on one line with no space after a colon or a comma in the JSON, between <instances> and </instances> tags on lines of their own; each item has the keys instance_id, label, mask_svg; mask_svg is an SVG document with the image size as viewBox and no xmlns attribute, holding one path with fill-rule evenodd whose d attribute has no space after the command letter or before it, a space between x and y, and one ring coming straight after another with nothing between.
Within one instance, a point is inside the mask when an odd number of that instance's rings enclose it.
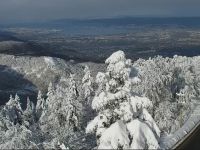
<instances>
[{"instance_id":1,"label":"largest pine tree, heavily caked in thick white snow, in the foreground","mask_svg":"<svg viewBox=\"0 0 200 150\"><path fill-rule=\"evenodd\" d=\"M123 51L117 51L105 63L107 71L97 74L99 89L92 101L98 115L86 133L96 133L99 149L159 148L160 130L147 111L152 103L131 89L131 61Z\"/></svg>"}]
</instances>

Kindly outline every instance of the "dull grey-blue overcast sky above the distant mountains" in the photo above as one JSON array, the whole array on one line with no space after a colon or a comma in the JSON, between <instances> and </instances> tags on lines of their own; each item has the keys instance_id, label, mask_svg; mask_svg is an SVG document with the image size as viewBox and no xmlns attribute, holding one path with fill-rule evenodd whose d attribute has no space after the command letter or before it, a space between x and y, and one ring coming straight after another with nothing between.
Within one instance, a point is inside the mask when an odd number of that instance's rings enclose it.
<instances>
[{"instance_id":1,"label":"dull grey-blue overcast sky above the distant mountains","mask_svg":"<svg viewBox=\"0 0 200 150\"><path fill-rule=\"evenodd\" d=\"M113 16L200 16L200 0L0 0L0 23Z\"/></svg>"}]
</instances>

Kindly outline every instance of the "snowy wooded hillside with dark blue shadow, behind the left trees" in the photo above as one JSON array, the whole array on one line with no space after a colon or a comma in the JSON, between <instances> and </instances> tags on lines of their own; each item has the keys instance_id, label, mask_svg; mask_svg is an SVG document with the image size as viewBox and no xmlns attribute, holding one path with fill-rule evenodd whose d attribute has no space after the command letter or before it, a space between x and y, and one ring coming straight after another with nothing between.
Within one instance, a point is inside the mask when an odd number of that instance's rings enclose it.
<instances>
[{"instance_id":1,"label":"snowy wooded hillside with dark blue shadow, behind the left trees","mask_svg":"<svg viewBox=\"0 0 200 150\"><path fill-rule=\"evenodd\" d=\"M93 76L104 66L94 63L75 64L51 57L0 54L0 105L8 101L10 94L15 93L18 93L22 100L29 96L36 102L38 91L45 94L50 82L56 83L61 77L68 78L70 73L80 80L86 64L94 68Z\"/></svg>"}]
</instances>

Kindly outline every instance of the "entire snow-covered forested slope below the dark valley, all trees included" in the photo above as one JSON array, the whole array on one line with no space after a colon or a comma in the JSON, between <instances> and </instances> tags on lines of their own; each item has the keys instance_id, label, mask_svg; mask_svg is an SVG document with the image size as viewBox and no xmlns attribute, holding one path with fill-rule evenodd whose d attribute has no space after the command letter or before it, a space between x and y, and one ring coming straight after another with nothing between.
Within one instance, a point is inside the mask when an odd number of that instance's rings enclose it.
<instances>
[{"instance_id":1,"label":"entire snow-covered forested slope below the dark valley, all trees included","mask_svg":"<svg viewBox=\"0 0 200 150\"><path fill-rule=\"evenodd\" d=\"M199 64L123 51L105 64L0 55L0 148L158 149L192 113Z\"/></svg>"}]
</instances>

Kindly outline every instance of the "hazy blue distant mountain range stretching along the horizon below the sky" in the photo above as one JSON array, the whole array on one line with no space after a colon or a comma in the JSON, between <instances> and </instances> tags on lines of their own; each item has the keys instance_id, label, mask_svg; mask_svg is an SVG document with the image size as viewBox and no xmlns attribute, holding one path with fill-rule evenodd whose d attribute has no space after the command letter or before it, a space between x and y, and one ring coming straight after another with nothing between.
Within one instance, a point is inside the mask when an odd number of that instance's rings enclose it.
<instances>
[{"instance_id":1,"label":"hazy blue distant mountain range stretching along the horizon below the sky","mask_svg":"<svg viewBox=\"0 0 200 150\"><path fill-rule=\"evenodd\" d=\"M128 26L128 25L178 25L178 26L200 26L200 17L115 17L115 18L98 18L98 19L59 19L47 22L32 23L10 23L1 24L2 26L30 26L30 27L70 27L70 26Z\"/></svg>"}]
</instances>

